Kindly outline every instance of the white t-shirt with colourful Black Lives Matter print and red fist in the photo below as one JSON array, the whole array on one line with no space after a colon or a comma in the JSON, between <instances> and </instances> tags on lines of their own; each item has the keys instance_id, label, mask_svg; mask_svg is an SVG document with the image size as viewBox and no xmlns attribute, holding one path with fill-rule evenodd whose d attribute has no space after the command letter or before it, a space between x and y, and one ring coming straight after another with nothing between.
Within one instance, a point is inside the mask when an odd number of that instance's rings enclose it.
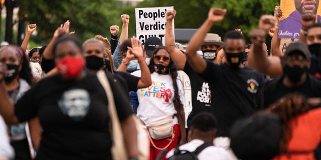
<instances>
[{"instance_id":1,"label":"white t-shirt with colourful Black Lives Matter print and red fist","mask_svg":"<svg viewBox=\"0 0 321 160\"><path fill-rule=\"evenodd\" d=\"M131 74L141 76L140 70L136 70ZM137 116L148 124L153 121L171 117L176 114L174 107L174 86L171 75L158 74L153 72L150 74L151 85L146 88L137 89L137 97L139 101ZM179 96L181 103L184 102L183 84L177 79ZM173 121L177 124L177 118Z\"/></svg>"}]
</instances>

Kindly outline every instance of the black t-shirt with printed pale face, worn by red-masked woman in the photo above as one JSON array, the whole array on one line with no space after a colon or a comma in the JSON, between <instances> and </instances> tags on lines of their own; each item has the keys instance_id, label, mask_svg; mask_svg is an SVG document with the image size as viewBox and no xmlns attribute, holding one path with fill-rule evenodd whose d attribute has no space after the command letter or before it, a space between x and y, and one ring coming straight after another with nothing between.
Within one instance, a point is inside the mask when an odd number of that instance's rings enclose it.
<instances>
[{"instance_id":1,"label":"black t-shirt with printed pale face, worn by red-masked woman","mask_svg":"<svg viewBox=\"0 0 321 160\"><path fill-rule=\"evenodd\" d=\"M132 114L128 93L108 75L121 120ZM79 81L60 75L37 82L15 105L20 121L39 116L43 126L38 159L110 159L106 93L95 73Z\"/></svg>"}]
</instances>

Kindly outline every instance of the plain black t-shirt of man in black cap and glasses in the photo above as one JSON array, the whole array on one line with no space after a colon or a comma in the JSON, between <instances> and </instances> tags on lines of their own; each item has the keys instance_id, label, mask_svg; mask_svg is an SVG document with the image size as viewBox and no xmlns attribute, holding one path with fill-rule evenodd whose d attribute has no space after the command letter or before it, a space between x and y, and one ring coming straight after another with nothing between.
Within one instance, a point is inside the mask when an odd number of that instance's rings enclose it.
<instances>
[{"instance_id":1,"label":"plain black t-shirt of man in black cap and glasses","mask_svg":"<svg viewBox=\"0 0 321 160\"><path fill-rule=\"evenodd\" d=\"M287 93L301 93L306 97L321 97L321 80L308 75L305 82L297 87L286 87L283 84L283 76L273 79L264 86L264 107L280 99Z\"/></svg>"}]
</instances>

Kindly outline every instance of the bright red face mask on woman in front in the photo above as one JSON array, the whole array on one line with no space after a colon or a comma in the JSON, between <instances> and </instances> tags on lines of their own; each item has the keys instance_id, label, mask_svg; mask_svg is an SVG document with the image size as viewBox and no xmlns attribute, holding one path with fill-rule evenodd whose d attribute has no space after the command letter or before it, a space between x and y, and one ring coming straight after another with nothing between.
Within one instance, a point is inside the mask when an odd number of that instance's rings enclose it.
<instances>
[{"instance_id":1,"label":"bright red face mask on woman in front","mask_svg":"<svg viewBox=\"0 0 321 160\"><path fill-rule=\"evenodd\" d=\"M64 77L74 79L84 66L84 59L77 56L67 56L56 63L58 72Z\"/></svg>"}]
</instances>

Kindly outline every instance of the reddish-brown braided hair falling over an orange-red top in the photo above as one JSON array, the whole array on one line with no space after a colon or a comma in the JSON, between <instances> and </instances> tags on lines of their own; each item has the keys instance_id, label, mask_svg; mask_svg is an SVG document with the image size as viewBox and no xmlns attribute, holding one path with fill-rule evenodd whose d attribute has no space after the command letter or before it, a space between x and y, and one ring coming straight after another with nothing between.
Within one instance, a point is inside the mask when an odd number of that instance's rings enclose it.
<instances>
[{"instance_id":1,"label":"reddish-brown braided hair falling over an orange-red top","mask_svg":"<svg viewBox=\"0 0 321 160\"><path fill-rule=\"evenodd\" d=\"M269 105L266 111L277 114L281 118L282 134L280 137L280 153L287 152L287 144L292 137L292 125L297 116L309 110L307 99L298 93L289 93Z\"/></svg>"}]
</instances>

